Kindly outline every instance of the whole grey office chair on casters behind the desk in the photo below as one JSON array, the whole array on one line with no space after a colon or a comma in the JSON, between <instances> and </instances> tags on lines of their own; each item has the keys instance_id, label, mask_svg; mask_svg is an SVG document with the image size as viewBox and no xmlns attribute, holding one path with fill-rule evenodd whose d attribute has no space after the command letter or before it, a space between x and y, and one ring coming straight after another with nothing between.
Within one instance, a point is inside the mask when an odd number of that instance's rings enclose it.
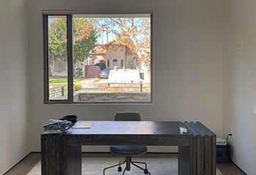
<instances>
[{"instance_id":1,"label":"whole grey office chair on casters behind the desk","mask_svg":"<svg viewBox=\"0 0 256 175\"><path fill-rule=\"evenodd\" d=\"M117 112L115 116L115 121L141 121L140 113L139 112ZM130 171L131 163L132 163L133 166L136 166L137 168L140 168L141 170L143 170L144 174L150 175L150 173L148 172L146 163L132 161L132 157L145 155L147 150L148 149L146 146L110 146L110 152L112 153L112 155L124 157L124 161L119 161L119 163L115 165L115 166L118 166L118 171L121 171L121 165L124 163L127 163L127 166L124 168L124 173L125 171ZM145 169L141 168L135 163L145 164ZM115 166L110 166L108 168L113 168ZM105 175L105 170L108 168L105 168L103 170L103 175ZM124 173L122 175L124 175Z\"/></svg>"}]
</instances>

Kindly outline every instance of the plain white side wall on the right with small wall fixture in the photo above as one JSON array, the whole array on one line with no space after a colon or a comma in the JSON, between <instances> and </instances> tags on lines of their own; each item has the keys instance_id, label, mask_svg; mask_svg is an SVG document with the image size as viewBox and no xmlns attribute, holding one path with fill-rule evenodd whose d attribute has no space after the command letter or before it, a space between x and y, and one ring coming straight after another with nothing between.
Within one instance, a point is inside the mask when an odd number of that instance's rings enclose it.
<instances>
[{"instance_id":1,"label":"plain white side wall on the right with small wall fixture","mask_svg":"<svg viewBox=\"0 0 256 175\"><path fill-rule=\"evenodd\" d=\"M246 174L256 172L256 2L225 0L223 13L223 136L233 129L231 159ZM244 50L237 50L237 42ZM255 96L256 97L256 96Z\"/></svg>"}]
</instances>

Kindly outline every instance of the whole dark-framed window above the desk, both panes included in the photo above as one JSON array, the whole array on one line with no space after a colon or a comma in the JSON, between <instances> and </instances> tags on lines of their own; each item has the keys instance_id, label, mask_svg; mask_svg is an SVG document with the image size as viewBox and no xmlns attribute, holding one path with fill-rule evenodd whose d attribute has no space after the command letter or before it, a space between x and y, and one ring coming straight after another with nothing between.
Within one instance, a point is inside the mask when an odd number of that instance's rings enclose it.
<instances>
[{"instance_id":1,"label":"whole dark-framed window above the desk, both panes included","mask_svg":"<svg viewBox=\"0 0 256 175\"><path fill-rule=\"evenodd\" d=\"M151 12L42 13L45 104L152 103Z\"/></svg>"}]
</instances>

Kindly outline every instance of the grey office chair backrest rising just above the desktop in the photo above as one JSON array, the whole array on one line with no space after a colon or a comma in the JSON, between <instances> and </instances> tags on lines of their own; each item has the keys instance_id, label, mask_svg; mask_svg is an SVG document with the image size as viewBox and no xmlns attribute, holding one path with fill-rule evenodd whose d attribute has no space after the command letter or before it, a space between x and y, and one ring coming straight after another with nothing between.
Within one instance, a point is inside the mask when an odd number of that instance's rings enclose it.
<instances>
[{"instance_id":1,"label":"grey office chair backrest rising just above the desktop","mask_svg":"<svg viewBox=\"0 0 256 175\"><path fill-rule=\"evenodd\" d=\"M115 121L141 121L139 112L116 112Z\"/></svg>"}]
</instances>

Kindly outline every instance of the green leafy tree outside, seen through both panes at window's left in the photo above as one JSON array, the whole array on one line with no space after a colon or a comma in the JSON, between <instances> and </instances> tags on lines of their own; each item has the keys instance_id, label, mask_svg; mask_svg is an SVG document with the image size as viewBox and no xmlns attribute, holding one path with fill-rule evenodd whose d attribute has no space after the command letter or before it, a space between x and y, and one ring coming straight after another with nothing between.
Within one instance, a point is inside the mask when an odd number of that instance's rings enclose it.
<instances>
[{"instance_id":1,"label":"green leafy tree outside, seen through both panes at window's left","mask_svg":"<svg viewBox=\"0 0 256 175\"><path fill-rule=\"evenodd\" d=\"M83 63L94 50L97 32L94 30L95 20L87 18L73 19L73 76L75 66ZM56 18L51 21L49 31L49 64L57 59L67 61L67 19Z\"/></svg>"}]
</instances>

